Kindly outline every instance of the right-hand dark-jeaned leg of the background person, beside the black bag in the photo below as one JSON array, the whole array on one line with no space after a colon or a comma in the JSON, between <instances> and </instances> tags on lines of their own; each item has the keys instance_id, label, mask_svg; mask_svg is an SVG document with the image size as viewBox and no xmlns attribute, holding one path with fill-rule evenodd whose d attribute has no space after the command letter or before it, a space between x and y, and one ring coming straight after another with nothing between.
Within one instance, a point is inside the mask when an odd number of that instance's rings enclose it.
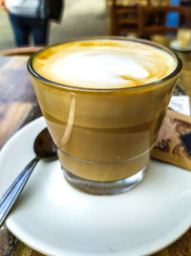
<instances>
[{"instance_id":1,"label":"right-hand dark-jeaned leg of the background person, beside the black bag","mask_svg":"<svg viewBox=\"0 0 191 256\"><path fill-rule=\"evenodd\" d=\"M49 22L46 19L33 19L31 33L35 45L46 45L48 41Z\"/></svg>"}]
</instances>

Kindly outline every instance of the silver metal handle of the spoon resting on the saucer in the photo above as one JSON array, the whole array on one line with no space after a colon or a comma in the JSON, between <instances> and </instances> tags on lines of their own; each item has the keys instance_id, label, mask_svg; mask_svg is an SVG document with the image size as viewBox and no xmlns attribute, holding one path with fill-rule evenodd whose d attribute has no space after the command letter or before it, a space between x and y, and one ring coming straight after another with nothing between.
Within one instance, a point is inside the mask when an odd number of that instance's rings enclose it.
<instances>
[{"instance_id":1,"label":"silver metal handle of the spoon resting on the saucer","mask_svg":"<svg viewBox=\"0 0 191 256\"><path fill-rule=\"evenodd\" d=\"M25 169L15 178L3 197L0 198L0 227L10 213L12 205L21 194L39 159L38 156L34 157Z\"/></svg>"}]
</instances>

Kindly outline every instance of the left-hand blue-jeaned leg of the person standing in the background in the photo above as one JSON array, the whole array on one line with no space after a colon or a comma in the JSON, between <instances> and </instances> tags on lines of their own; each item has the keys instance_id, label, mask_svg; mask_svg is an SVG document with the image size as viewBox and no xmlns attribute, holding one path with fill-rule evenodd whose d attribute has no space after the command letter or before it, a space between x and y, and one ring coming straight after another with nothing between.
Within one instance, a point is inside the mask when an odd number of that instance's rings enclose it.
<instances>
[{"instance_id":1,"label":"left-hand blue-jeaned leg of the person standing in the background","mask_svg":"<svg viewBox=\"0 0 191 256\"><path fill-rule=\"evenodd\" d=\"M25 18L10 13L11 26L17 46L29 45L29 31L25 26Z\"/></svg>"}]
</instances>

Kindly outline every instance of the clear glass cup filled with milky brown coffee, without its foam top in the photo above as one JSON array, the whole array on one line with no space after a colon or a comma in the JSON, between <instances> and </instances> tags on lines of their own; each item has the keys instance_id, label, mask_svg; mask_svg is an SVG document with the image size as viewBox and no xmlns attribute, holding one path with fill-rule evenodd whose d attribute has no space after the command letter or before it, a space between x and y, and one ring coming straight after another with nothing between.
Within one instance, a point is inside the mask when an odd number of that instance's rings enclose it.
<instances>
[{"instance_id":1,"label":"clear glass cup filled with milky brown coffee, without its foam top","mask_svg":"<svg viewBox=\"0 0 191 256\"><path fill-rule=\"evenodd\" d=\"M100 38L103 37L83 40ZM39 76L33 68L33 59L39 52L28 62L38 103L66 179L75 188L97 195L130 190L143 178L181 69L180 58L153 42L104 38L161 49L174 58L176 68L167 77L140 86L86 89Z\"/></svg>"}]
</instances>

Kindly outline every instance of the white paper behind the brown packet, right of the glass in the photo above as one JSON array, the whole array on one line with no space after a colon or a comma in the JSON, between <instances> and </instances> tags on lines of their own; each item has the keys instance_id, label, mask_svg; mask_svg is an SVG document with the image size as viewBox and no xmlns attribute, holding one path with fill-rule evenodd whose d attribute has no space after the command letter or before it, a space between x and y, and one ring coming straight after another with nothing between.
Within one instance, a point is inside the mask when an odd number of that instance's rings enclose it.
<instances>
[{"instance_id":1,"label":"white paper behind the brown packet, right of the glass","mask_svg":"<svg viewBox=\"0 0 191 256\"><path fill-rule=\"evenodd\" d=\"M190 116L190 99L188 96L172 96L169 108L180 112L181 114Z\"/></svg>"}]
</instances>

